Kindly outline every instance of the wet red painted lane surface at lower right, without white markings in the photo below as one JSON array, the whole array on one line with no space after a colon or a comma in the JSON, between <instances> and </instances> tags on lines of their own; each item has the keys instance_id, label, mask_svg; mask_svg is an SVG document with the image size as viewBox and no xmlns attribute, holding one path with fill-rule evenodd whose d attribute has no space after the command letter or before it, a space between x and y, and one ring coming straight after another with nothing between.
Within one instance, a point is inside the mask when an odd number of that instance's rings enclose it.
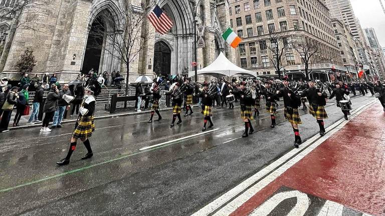
<instances>
[{"instance_id":1,"label":"wet red painted lane surface at lower right, without white markings","mask_svg":"<svg viewBox=\"0 0 385 216\"><path fill-rule=\"evenodd\" d=\"M382 107L379 104L369 106L231 215L249 215L282 186L357 211L385 215L385 115Z\"/></svg>"}]
</instances>

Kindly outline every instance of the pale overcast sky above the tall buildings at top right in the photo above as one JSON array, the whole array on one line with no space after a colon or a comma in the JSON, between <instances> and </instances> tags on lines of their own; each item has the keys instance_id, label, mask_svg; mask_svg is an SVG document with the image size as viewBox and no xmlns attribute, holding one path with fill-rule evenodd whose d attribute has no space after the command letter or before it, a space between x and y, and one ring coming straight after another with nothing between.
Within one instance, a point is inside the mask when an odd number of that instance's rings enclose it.
<instances>
[{"instance_id":1,"label":"pale overcast sky above the tall buildings at top right","mask_svg":"<svg viewBox=\"0 0 385 216\"><path fill-rule=\"evenodd\" d=\"M373 27L379 43L385 46L385 13L383 13L380 0L350 0L354 14L359 19L362 29ZM385 0L381 0L385 6Z\"/></svg>"}]
</instances>

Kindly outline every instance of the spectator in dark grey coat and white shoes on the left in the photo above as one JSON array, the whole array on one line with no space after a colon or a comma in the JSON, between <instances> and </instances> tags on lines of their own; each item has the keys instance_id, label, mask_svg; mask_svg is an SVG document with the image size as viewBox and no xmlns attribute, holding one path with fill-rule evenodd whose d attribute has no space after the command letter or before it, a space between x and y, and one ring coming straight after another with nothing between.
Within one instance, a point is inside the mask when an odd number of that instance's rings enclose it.
<instances>
[{"instance_id":1,"label":"spectator in dark grey coat and white shoes on the left","mask_svg":"<svg viewBox=\"0 0 385 216\"><path fill-rule=\"evenodd\" d=\"M50 132L52 129L48 128L48 124L50 123L51 118L55 114L55 110L58 108L58 100L59 100L59 89L56 84L51 85L50 92L48 92L46 102L44 103L44 113L46 115L43 119L43 125L40 129L40 132Z\"/></svg>"}]
</instances>

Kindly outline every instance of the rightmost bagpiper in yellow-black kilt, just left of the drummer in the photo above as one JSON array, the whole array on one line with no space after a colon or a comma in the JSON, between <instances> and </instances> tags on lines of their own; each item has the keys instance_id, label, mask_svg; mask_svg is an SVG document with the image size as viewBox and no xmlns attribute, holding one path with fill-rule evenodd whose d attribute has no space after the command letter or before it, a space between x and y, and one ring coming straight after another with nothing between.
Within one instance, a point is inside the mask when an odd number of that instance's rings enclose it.
<instances>
[{"instance_id":1,"label":"rightmost bagpiper in yellow-black kilt, just left of the drummer","mask_svg":"<svg viewBox=\"0 0 385 216\"><path fill-rule=\"evenodd\" d=\"M309 113L317 119L319 134L323 136L325 134L323 119L328 117L325 110L327 94L316 88L313 81L309 81L308 84L309 88L301 93L301 97L306 96L307 100L309 100Z\"/></svg>"}]
</instances>

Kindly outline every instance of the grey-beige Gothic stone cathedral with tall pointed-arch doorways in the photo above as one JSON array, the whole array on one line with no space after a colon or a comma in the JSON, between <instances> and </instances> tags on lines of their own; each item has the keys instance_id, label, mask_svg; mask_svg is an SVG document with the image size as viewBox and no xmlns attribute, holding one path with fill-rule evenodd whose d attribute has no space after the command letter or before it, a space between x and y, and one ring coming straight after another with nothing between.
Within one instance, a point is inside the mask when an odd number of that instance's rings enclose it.
<instances>
[{"instance_id":1,"label":"grey-beige Gothic stone cathedral with tall pointed-arch doorways","mask_svg":"<svg viewBox=\"0 0 385 216\"><path fill-rule=\"evenodd\" d=\"M126 74L125 64L114 55L114 51L106 52L92 47L95 38L90 36L92 35L90 32L97 24L96 21L105 24L104 27L108 29L108 21L102 15L106 12L111 15L108 18L119 26L121 20L125 19L126 4L132 5L134 13L148 14L150 9L146 10L143 7L145 0L50 0L49 3L42 1L44 0L31 1L36 5L26 7L18 11L12 20L0 23L0 27L8 27L8 36L0 58L0 71L3 75L15 79L20 77L14 65L27 47L34 50L37 60L33 72L56 73L62 82L71 80L80 71L89 71L91 68L109 72L115 69L120 70L123 75ZM191 62L194 61L195 19L200 27L198 32L201 41L198 48L198 66L210 64L220 51L226 53L230 59L234 58L232 49L221 37L222 32L230 25L227 0L200 0L199 5L198 0L156 2L170 16L173 27L168 33L161 35L154 32L147 19L143 20L144 23L139 27L141 34L143 35L143 32L154 34L151 38L145 38L145 47L130 64L130 80L141 74L152 75L155 65L164 75L193 70ZM9 4L8 7L12 8L12 5ZM31 14L34 18L29 20ZM23 25L18 26L16 23ZM125 32L118 29L113 33ZM102 40L105 42L106 38Z\"/></svg>"}]
</instances>

